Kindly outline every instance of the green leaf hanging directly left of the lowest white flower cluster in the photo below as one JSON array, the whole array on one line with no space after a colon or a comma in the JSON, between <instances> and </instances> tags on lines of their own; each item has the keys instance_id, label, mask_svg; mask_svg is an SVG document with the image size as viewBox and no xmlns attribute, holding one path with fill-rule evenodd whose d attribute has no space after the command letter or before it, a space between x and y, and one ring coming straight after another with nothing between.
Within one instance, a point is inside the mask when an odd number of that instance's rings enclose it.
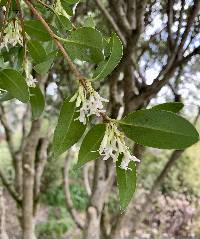
<instances>
[{"instance_id":1,"label":"green leaf hanging directly left of the lowest white flower cluster","mask_svg":"<svg viewBox=\"0 0 200 239\"><path fill-rule=\"evenodd\" d=\"M105 130L106 126L104 124L97 124L89 130L81 144L76 168L80 168L85 163L95 160L100 156L98 150Z\"/></svg>"}]
</instances>

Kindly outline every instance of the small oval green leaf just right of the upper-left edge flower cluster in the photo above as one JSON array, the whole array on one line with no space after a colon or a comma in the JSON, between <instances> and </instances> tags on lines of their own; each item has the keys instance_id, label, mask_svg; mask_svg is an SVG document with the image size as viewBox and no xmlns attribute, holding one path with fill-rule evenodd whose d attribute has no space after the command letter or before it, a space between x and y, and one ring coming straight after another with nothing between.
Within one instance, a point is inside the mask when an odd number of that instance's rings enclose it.
<instances>
[{"instance_id":1,"label":"small oval green leaf just right of the upper-left edge flower cluster","mask_svg":"<svg viewBox=\"0 0 200 239\"><path fill-rule=\"evenodd\" d=\"M40 63L46 58L46 51L39 41L30 40L27 46L28 51L35 63Z\"/></svg>"}]
</instances>

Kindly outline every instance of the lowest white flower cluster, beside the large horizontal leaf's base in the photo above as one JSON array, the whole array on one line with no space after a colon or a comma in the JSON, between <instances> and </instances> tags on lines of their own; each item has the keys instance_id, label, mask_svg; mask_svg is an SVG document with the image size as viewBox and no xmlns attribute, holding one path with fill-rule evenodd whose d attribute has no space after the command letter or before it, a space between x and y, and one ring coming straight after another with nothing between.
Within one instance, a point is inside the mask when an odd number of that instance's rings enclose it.
<instances>
[{"instance_id":1,"label":"lowest white flower cluster, beside the large horizontal leaf's base","mask_svg":"<svg viewBox=\"0 0 200 239\"><path fill-rule=\"evenodd\" d=\"M106 132L99 148L100 155L103 155L103 160L112 158L116 162L119 155L123 155L121 168L129 169L130 161L139 162L135 156L131 155L130 149L125 143L125 136L120 132L114 122L109 122L106 125Z\"/></svg>"}]
</instances>

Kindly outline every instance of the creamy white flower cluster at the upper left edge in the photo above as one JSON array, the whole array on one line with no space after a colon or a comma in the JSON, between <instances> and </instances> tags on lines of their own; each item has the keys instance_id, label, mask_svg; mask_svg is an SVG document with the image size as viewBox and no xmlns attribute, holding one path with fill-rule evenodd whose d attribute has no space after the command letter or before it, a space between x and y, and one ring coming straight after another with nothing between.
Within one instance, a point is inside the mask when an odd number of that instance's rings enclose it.
<instances>
[{"instance_id":1,"label":"creamy white flower cluster at the upper left edge","mask_svg":"<svg viewBox=\"0 0 200 239\"><path fill-rule=\"evenodd\" d=\"M9 22L4 30L3 41L0 43L0 50L4 47L8 51L8 46L16 46L20 44L23 46L23 37L21 35L21 26L18 20Z\"/></svg>"}]
</instances>

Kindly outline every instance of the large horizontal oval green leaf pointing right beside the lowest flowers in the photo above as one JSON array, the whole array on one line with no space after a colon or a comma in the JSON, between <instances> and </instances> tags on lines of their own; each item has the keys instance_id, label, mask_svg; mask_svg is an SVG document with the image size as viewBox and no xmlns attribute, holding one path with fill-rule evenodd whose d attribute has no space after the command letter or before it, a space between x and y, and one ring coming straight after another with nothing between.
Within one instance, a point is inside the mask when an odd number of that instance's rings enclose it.
<instances>
[{"instance_id":1,"label":"large horizontal oval green leaf pointing right beside the lowest flowers","mask_svg":"<svg viewBox=\"0 0 200 239\"><path fill-rule=\"evenodd\" d=\"M198 141L186 119L164 110L140 110L119 122L125 135L138 144L161 149L183 149Z\"/></svg>"}]
</instances>

